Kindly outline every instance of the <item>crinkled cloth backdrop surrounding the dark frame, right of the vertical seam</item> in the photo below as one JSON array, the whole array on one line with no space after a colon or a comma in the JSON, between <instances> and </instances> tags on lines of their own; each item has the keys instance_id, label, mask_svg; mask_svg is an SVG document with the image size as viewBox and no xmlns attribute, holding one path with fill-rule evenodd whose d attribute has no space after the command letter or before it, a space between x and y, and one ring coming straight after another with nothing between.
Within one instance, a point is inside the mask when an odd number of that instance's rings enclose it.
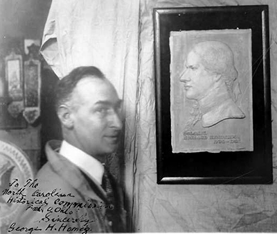
<instances>
[{"instance_id":1,"label":"crinkled cloth backdrop surrounding the dark frame, right of the vertical seam","mask_svg":"<svg viewBox=\"0 0 277 234\"><path fill-rule=\"evenodd\" d=\"M273 185L157 185L154 115L154 40L152 8L190 6L269 5ZM276 1L154 1L141 0L141 66L137 148L133 168L133 228L137 232L266 232L277 231L277 3Z\"/></svg>"}]
</instances>

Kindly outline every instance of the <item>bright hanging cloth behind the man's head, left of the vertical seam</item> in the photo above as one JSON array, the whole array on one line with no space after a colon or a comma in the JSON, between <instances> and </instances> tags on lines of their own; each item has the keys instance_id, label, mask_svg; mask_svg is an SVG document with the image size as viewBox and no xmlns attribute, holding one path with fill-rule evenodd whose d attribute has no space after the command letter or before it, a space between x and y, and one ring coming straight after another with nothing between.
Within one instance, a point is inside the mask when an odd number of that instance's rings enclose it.
<instances>
[{"instance_id":1,"label":"bright hanging cloth behind the man's head, left of the vertical seam","mask_svg":"<svg viewBox=\"0 0 277 234\"><path fill-rule=\"evenodd\" d=\"M78 66L98 67L123 99L123 144L121 150L109 156L107 166L118 180L126 178L123 187L127 188L127 208L132 210L139 95L139 0L53 0L41 53L59 78Z\"/></svg>"}]
</instances>

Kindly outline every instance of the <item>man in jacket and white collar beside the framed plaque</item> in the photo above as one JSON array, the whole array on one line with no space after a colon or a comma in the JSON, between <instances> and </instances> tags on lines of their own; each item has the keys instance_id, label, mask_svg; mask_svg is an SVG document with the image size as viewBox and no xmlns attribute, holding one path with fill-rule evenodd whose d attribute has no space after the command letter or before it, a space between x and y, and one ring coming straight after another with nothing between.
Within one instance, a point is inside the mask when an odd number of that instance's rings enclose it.
<instances>
[{"instance_id":1,"label":"man in jacket and white collar beside the framed plaque","mask_svg":"<svg viewBox=\"0 0 277 234\"><path fill-rule=\"evenodd\" d=\"M8 231L124 232L123 196L102 165L120 140L121 100L96 67L74 69L55 94L64 140L46 144L48 162L37 174L37 186L29 189L30 208Z\"/></svg>"}]
</instances>

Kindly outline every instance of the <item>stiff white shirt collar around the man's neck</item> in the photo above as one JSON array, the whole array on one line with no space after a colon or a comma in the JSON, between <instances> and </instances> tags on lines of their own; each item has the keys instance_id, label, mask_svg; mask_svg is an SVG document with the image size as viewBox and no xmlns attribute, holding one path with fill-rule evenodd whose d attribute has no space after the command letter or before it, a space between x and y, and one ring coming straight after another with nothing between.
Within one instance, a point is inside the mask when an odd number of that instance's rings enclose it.
<instances>
[{"instance_id":1,"label":"stiff white shirt collar around the man's neck","mask_svg":"<svg viewBox=\"0 0 277 234\"><path fill-rule=\"evenodd\" d=\"M100 185L102 184L104 166L97 159L87 153L84 153L84 151L73 147L72 144L69 144L65 140L62 141L60 154L82 169L84 173L94 178L98 183L100 183Z\"/></svg>"}]
</instances>

